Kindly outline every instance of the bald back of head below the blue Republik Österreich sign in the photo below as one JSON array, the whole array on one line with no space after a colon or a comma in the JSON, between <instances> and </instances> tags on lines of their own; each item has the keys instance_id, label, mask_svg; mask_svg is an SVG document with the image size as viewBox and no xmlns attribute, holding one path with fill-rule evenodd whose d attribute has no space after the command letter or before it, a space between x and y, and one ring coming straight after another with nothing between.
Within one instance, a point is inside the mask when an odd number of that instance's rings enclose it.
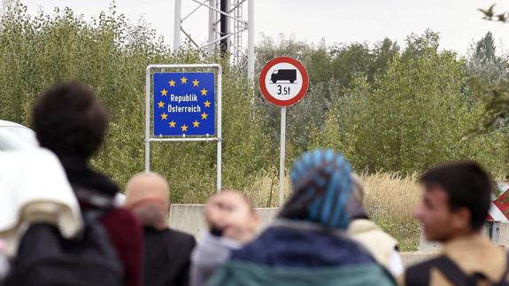
<instances>
[{"instance_id":1,"label":"bald back of head below the blue Republik \u00d6sterreich sign","mask_svg":"<svg viewBox=\"0 0 509 286\"><path fill-rule=\"evenodd\" d=\"M124 206L135 213L143 226L166 229L170 189L165 178L156 173L135 174L127 182Z\"/></svg>"}]
</instances>

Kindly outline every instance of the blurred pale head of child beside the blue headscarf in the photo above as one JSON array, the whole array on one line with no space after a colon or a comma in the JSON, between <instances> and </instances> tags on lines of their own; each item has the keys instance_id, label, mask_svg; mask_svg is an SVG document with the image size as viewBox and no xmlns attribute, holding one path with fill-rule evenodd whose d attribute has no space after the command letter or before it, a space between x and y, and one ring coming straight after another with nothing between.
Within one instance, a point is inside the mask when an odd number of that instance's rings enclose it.
<instances>
[{"instance_id":1,"label":"blurred pale head of child beside the blue headscarf","mask_svg":"<svg viewBox=\"0 0 509 286\"><path fill-rule=\"evenodd\" d=\"M239 242L250 241L259 225L258 213L251 200L233 189L212 196L205 205L204 214L212 232L220 232L220 235Z\"/></svg>"}]
</instances>

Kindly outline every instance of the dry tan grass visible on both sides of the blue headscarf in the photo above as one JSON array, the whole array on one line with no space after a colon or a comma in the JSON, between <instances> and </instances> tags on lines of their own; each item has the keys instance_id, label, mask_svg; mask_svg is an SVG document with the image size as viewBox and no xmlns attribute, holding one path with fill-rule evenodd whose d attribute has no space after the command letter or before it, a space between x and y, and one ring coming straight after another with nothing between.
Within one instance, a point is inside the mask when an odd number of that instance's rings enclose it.
<instances>
[{"instance_id":1,"label":"dry tan grass visible on both sides of the blue headscarf","mask_svg":"<svg viewBox=\"0 0 509 286\"><path fill-rule=\"evenodd\" d=\"M419 243L419 223L413 210L420 199L417 174L377 173L360 176L366 192L366 211L385 231L395 236L402 251L415 251ZM245 194L257 207L278 206L279 179L276 170L259 174ZM289 177L285 177L284 197L289 197Z\"/></svg>"}]
</instances>

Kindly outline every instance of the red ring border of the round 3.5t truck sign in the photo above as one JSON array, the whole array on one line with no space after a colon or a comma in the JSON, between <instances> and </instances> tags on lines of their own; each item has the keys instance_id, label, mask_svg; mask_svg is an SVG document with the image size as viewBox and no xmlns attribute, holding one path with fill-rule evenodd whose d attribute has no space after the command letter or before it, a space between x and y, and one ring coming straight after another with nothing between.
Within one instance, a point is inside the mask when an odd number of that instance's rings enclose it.
<instances>
[{"instance_id":1,"label":"red ring border of the round 3.5t truck sign","mask_svg":"<svg viewBox=\"0 0 509 286\"><path fill-rule=\"evenodd\" d=\"M265 77L266 73L270 70L271 67L281 64L281 63L289 63L293 66L296 66L300 74L302 75L302 87L298 91L297 96L289 99L289 100L280 100L275 97L273 97L270 92L268 92L268 89L266 89L265 84ZM268 100L271 104L278 105L278 106L290 106L293 104L297 104L307 92L307 88L309 86L309 77L307 75L307 72L305 70L305 67L295 58L289 58L289 57L278 57L271 59L266 65L262 68L261 73L259 75L259 89L261 93L266 97L266 100Z\"/></svg>"}]
</instances>

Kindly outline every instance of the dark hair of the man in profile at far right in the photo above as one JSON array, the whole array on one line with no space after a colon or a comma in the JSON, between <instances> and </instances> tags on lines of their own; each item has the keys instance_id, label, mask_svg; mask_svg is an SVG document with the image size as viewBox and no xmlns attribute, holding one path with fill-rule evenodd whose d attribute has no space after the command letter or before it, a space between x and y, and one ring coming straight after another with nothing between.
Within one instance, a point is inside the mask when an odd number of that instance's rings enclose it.
<instances>
[{"instance_id":1,"label":"dark hair of the man in profile at far right","mask_svg":"<svg viewBox=\"0 0 509 286\"><path fill-rule=\"evenodd\" d=\"M449 197L451 210L467 207L474 230L482 228L491 202L491 181L482 166L475 162L458 162L437 166L420 177L426 189L441 187Z\"/></svg>"}]
</instances>

